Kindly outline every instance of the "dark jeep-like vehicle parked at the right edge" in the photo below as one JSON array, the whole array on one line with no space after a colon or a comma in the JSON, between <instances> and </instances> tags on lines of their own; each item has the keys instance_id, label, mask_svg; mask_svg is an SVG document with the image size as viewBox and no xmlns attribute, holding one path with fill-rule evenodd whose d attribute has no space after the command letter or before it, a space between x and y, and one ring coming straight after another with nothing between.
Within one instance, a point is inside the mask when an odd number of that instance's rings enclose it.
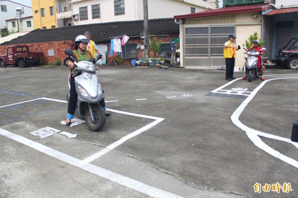
<instances>
[{"instance_id":1,"label":"dark jeep-like vehicle parked at the right edge","mask_svg":"<svg viewBox=\"0 0 298 198\"><path fill-rule=\"evenodd\" d=\"M277 64L287 64L288 69L298 69L298 38L291 39L285 47L278 50Z\"/></svg>"}]
</instances>

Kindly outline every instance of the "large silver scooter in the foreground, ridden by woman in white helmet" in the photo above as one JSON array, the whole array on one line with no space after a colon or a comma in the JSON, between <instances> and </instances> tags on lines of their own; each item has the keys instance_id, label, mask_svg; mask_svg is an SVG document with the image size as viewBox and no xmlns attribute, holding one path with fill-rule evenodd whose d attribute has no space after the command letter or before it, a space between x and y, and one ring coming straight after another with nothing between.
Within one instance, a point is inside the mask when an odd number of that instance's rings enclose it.
<instances>
[{"instance_id":1,"label":"large silver scooter in the foreground, ridden by woman in white helmet","mask_svg":"<svg viewBox=\"0 0 298 198\"><path fill-rule=\"evenodd\" d=\"M74 60L74 67L81 71L81 74L74 78L75 90L77 93L76 113L85 119L89 130L100 131L105 122L106 115L103 110L104 93L95 75L96 66L89 61L77 62L72 50L65 50L66 55L71 56ZM69 102L71 76L68 80L68 93L66 99Z\"/></svg>"}]
</instances>

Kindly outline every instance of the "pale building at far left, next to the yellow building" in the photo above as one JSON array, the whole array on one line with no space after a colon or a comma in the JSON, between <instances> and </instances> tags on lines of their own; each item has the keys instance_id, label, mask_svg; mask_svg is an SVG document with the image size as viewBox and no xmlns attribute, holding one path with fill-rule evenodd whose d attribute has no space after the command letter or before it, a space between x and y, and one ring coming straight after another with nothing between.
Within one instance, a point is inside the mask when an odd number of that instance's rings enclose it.
<instances>
[{"instance_id":1,"label":"pale building at far left, next to the yellow building","mask_svg":"<svg viewBox=\"0 0 298 198\"><path fill-rule=\"evenodd\" d=\"M16 8L23 8L23 14L16 16ZM10 0L0 0L0 28L8 32L30 31L34 26L32 8Z\"/></svg>"}]
</instances>

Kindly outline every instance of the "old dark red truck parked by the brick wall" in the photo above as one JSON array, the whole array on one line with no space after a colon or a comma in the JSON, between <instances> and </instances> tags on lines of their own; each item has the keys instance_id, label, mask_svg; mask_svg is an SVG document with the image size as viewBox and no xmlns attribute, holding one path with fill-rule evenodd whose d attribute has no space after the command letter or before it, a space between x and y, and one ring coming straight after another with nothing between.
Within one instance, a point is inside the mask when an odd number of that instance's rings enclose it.
<instances>
[{"instance_id":1,"label":"old dark red truck parked by the brick wall","mask_svg":"<svg viewBox=\"0 0 298 198\"><path fill-rule=\"evenodd\" d=\"M39 65L43 57L43 52L29 52L29 47L26 45L8 47L6 54L0 55L0 66L15 65L24 68L27 64Z\"/></svg>"}]
</instances>

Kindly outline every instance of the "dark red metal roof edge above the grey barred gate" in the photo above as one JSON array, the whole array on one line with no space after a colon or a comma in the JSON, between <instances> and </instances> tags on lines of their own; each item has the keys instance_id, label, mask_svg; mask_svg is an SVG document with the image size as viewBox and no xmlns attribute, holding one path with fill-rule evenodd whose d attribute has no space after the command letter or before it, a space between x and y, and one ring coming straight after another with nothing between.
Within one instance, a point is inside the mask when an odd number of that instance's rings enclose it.
<instances>
[{"instance_id":1,"label":"dark red metal roof edge above the grey barred gate","mask_svg":"<svg viewBox=\"0 0 298 198\"><path fill-rule=\"evenodd\" d=\"M256 5L244 5L244 6L231 6L231 7L223 7L219 9L206 10L202 12L196 12L192 14L177 15L177 16L174 16L174 18L182 19L182 18L215 16L215 15L235 14L235 13L253 12L253 11L264 11L265 10L264 6L267 6L267 10L272 8L271 5L268 6L268 3L256 4Z\"/></svg>"}]
</instances>

